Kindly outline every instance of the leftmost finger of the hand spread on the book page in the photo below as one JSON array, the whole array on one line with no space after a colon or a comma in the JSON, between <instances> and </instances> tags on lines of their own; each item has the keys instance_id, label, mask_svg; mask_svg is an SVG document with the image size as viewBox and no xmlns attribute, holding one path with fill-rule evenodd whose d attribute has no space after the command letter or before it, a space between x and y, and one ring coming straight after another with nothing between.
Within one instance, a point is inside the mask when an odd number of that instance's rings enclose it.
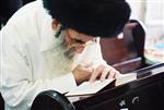
<instances>
[{"instance_id":1,"label":"leftmost finger of the hand spread on the book page","mask_svg":"<svg viewBox=\"0 0 164 110\"><path fill-rule=\"evenodd\" d=\"M98 68L96 68L93 74L91 75L90 82L94 82L101 75L103 70L104 70L104 65L99 65Z\"/></svg>"}]
</instances>

